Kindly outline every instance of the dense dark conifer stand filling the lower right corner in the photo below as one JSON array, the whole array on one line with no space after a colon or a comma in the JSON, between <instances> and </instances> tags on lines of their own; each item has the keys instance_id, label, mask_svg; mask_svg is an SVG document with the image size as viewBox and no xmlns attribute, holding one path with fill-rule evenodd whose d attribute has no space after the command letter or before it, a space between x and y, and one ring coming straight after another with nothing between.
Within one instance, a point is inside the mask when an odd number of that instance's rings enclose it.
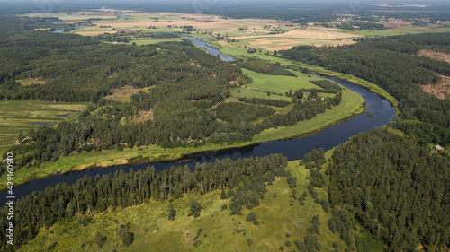
<instances>
[{"instance_id":1,"label":"dense dark conifer stand filling the lower right corner","mask_svg":"<svg viewBox=\"0 0 450 252\"><path fill-rule=\"evenodd\" d=\"M448 156L376 129L340 145L332 160L330 204L355 214L390 251L448 248Z\"/></svg>"}]
</instances>

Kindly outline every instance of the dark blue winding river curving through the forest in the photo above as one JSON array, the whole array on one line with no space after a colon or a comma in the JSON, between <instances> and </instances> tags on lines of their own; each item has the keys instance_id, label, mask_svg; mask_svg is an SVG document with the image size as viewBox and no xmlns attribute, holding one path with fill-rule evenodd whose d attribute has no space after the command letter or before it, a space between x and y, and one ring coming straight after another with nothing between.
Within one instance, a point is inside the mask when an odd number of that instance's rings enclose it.
<instances>
[{"instance_id":1,"label":"dark blue winding river curving through the forest","mask_svg":"<svg viewBox=\"0 0 450 252\"><path fill-rule=\"evenodd\" d=\"M203 41L202 46L207 47L209 45ZM215 48L207 49L216 50ZM26 184L14 187L14 195L16 196L16 199L19 199L23 196L31 194L31 192L34 190L44 190L45 187L53 187L61 182L72 184L76 182L77 179L83 178L84 176L102 176L103 174L114 173L120 169L129 172L130 169L146 169L148 165L153 165L155 169L157 169L157 171L165 169L169 166L180 165L187 165L193 168L197 163L215 161L217 159L221 160L224 158L230 158L232 160L237 160L239 158L265 156L271 153L282 153L287 157L289 161L300 160L302 159L304 154L311 152L312 149L323 148L325 151L328 151L329 149L338 146L338 144L340 143L347 142L348 137L352 135L357 135L361 132L387 125L393 119L393 117L395 117L395 110L392 104L388 100L383 99L378 94L368 91L364 87L356 85L355 83L349 83L347 81L330 78L327 76L325 77L331 81L342 84L349 90L356 91L356 93L363 95L366 102L366 111L368 111L371 116L369 116L368 113L363 113L351 120L348 120L347 122L339 124L338 126L331 126L316 135L311 135L308 137L276 140L267 143L258 143L247 147L221 150L217 152L199 152L185 156L184 160L189 160L187 162L171 161L151 164L136 164L132 166L119 165L110 168L95 168L84 169L81 171L71 171L65 174L53 175L48 178L34 179ZM0 204L4 205L6 191L0 192L0 198L2 199L2 202Z\"/></svg>"}]
</instances>

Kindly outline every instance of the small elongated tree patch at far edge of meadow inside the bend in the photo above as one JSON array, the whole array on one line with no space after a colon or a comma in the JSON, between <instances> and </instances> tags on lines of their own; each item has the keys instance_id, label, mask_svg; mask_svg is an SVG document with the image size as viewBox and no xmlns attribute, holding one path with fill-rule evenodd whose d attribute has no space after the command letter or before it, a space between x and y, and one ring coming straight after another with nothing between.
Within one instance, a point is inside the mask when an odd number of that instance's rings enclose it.
<instances>
[{"instance_id":1,"label":"small elongated tree patch at far edge of meadow inside the bend","mask_svg":"<svg viewBox=\"0 0 450 252\"><path fill-rule=\"evenodd\" d=\"M245 61L239 60L236 62L236 65L261 74L295 76L293 72L286 70L280 63L274 64L264 59L250 58Z\"/></svg>"}]
</instances>

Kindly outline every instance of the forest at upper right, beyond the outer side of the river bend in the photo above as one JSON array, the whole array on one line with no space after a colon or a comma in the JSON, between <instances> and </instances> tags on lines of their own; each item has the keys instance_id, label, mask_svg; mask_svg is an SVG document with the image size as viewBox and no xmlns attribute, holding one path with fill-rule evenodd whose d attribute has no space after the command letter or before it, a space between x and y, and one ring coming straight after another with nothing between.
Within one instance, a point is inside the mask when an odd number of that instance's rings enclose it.
<instances>
[{"instance_id":1,"label":"forest at upper right, beyond the outer side of the river bend","mask_svg":"<svg viewBox=\"0 0 450 252\"><path fill-rule=\"evenodd\" d=\"M351 46L314 48L298 46L280 53L284 57L320 65L375 83L399 100L399 117L450 130L450 100L438 100L419 84L435 85L450 76L450 64L416 56L419 48L448 47L447 33L365 39ZM417 39L417 40L416 40Z\"/></svg>"}]
</instances>

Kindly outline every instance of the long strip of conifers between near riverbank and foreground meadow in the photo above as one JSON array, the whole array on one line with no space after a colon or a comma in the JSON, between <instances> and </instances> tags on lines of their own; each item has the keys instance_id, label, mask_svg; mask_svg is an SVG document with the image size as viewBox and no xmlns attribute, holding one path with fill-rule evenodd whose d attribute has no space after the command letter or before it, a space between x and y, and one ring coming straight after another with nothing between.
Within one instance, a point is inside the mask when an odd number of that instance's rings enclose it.
<instances>
[{"instance_id":1,"label":"long strip of conifers between near riverbank and foreground meadow","mask_svg":"<svg viewBox=\"0 0 450 252\"><path fill-rule=\"evenodd\" d=\"M187 166L171 167L156 172L154 167L113 175L80 178L73 185L60 183L46 187L42 192L33 192L14 205L14 249L34 239L38 230L48 229L56 222L83 221L92 213L105 211L108 207L125 208L143 204L151 198L166 201L185 194L206 194L217 189L231 189L247 185L250 179L264 178L287 165L281 154L262 158L224 159L197 164L192 171ZM247 187L247 186L245 186ZM8 208L0 209L6 216ZM10 251L6 244L6 228L9 222L2 218L0 230L1 250Z\"/></svg>"}]
</instances>

